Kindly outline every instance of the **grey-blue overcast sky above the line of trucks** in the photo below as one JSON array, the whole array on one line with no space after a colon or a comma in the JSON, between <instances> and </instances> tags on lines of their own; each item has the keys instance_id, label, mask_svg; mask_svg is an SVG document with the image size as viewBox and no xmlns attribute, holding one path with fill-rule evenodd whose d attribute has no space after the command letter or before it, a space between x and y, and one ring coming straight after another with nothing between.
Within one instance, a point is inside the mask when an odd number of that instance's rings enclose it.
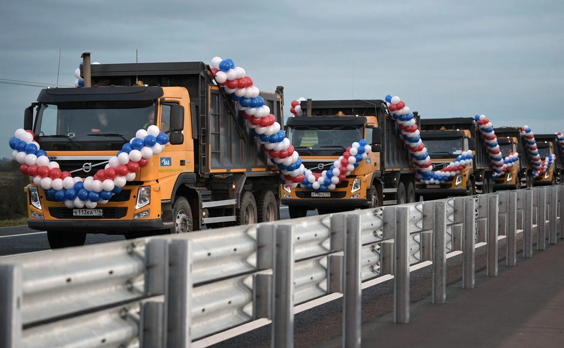
<instances>
[{"instance_id":1,"label":"grey-blue overcast sky above the line of trucks","mask_svg":"<svg viewBox=\"0 0 564 348\"><path fill-rule=\"evenodd\" d=\"M131 63L231 58L263 91L398 95L421 117L564 131L560 1L6 1L0 78L73 85L82 52ZM353 75L354 64L354 75ZM354 77L354 78L353 78ZM354 80L354 83L353 83ZM0 83L0 157L38 87ZM354 92L353 92L354 91Z\"/></svg>"}]
</instances>

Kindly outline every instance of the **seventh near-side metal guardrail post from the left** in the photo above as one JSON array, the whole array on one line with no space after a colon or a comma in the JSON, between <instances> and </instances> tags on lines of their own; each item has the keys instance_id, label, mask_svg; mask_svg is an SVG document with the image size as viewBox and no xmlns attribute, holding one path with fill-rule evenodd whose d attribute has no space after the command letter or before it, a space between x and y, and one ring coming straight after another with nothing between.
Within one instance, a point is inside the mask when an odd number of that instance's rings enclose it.
<instances>
[{"instance_id":1,"label":"seventh near-side metal guardrail post from the left","mask_svg":"<svg viewBox=\"0 0 564 348\"><path fill-rule=\"evenodd\" d=\"M474 289L474 232L474 197L468 197L464 199L464 222L462 224L462 287L465 289Z\"/></svg>"}]
</instances>

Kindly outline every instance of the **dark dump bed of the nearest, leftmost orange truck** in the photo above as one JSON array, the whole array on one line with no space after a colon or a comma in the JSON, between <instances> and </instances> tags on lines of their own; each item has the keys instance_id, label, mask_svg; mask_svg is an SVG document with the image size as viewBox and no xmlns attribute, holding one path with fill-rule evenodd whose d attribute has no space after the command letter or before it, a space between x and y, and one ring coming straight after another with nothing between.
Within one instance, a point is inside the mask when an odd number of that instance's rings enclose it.
<instances>
[{"instance_id":1,"label":"dark dump bed of the nearest, leftmost orange truck","mask_svg":"<svg viewBox=\"0 0 564 348\"><path fill-rule=\"evenodd\" d=\"M96 64L91 65L91 71L92 86L135 86L139 81L148 86L186 88L192 103L196 172L229 173L233 169L257 174L267 170L267 157L246 129L241 111L215 85L203 62ZM283 124L282 89L261 92L260 96Z\"/></svg>"}]
</instances>

